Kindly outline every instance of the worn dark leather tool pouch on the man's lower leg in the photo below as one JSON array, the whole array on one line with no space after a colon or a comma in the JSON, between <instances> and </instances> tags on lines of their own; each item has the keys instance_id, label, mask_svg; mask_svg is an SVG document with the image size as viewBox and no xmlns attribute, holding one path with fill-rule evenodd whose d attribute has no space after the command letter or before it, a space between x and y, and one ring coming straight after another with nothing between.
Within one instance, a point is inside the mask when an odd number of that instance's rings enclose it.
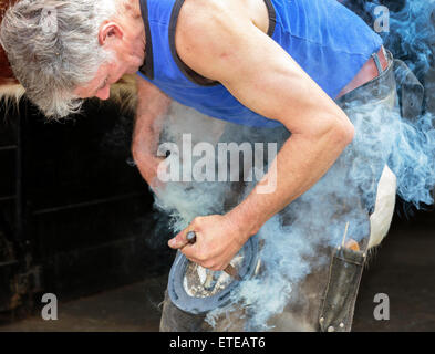
<instances>
[{"instance_id":1,"label":"worn dark leather tool pouch on the man's lower leg","mask_svg":"<svg viewBox=\"0 0 435 354\"><path fill-rule=\"evenodd\" d=\"M343 247L334 249L327 291L320 311L322 332L349 332L365 262L365 253Z\"/></svg>"}]
</instances>

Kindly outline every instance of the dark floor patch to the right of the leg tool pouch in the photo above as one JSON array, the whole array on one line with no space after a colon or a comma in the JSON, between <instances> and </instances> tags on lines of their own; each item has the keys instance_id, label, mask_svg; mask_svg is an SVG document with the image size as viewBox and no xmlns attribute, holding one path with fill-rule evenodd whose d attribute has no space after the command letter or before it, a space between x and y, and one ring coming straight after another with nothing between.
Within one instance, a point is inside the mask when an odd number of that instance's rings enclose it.
<instances>
[{"instance_id":1,"label":"dark floor patch to the right of the leg tool pouch","mask_svg":"<svg viewBox=\"0 0 435 354\"><path fill-rule=\"evenodd\" d=\"M435 331L435 216L396 225L363 274L353 331ZM390 298L390 321L375 321L376 293Z\"/></svg>"}]
</instances>

